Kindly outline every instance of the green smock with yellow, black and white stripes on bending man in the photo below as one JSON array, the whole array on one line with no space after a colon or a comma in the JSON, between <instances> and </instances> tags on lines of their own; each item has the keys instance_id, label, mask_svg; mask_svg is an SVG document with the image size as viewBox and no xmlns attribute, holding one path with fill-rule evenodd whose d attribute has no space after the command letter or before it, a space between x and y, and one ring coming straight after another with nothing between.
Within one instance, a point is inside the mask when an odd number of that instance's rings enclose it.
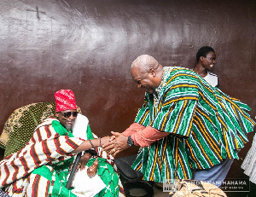
<instances>
[{"instance_id":1,"label":"green smock with yellow, black and white stripes on bending man","mask_svg":"<svg viewBox=\"0 0 256 197\"><path fill-rule=\"evenodd\" d=\"M168 135L140 148L133 169L144 179L190 179L190 169L208 169L225 158L237 159L247 132L255 123L241 101L212 87L197 73L182 67L164 67L154 94L146 92L136 123Z\"/></svg>"}]
</instances>

